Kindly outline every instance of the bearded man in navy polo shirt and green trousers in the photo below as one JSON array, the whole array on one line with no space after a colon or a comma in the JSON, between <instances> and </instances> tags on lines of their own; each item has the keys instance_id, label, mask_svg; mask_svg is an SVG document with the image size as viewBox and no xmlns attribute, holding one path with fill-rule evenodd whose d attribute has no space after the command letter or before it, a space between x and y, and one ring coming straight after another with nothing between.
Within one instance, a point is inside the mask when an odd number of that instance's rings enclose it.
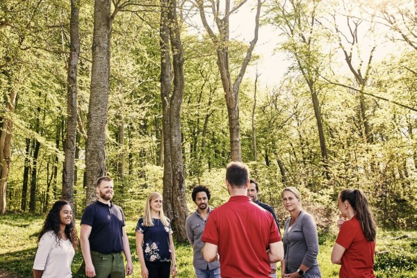
<instances>
[{"instance_id":1,"label":"bearded man in navy polo shirt and green trousers","mask_svg":"<svg viewBox=\"0 0 417 278\"><path fill-rule=\"evenodd\" d=\"M111 202L113 181L104 176L97 180L97 201L85 208L81 218L80 243L85 262L85 275L115 278L131 275L133 264L129 240L120 206ZM123 255L126 256L124 270Z\"/></svg>"}]
</instances>

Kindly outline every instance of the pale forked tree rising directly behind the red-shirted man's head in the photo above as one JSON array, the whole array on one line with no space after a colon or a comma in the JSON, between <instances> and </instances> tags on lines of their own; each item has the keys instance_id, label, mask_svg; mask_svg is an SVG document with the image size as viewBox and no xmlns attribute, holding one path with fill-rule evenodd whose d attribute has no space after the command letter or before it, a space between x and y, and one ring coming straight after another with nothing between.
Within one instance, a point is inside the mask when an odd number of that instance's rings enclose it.
<instances>
[{"instance_id":1,"label":"pale forked tree rising directly behind the red-shirted man's head","mask_svg":"<svg viewBox=\"0 0 417 278\"><path fill-rule=\"evenodd\" d=\"M220 1L208 1L208 6L211 7L212 16L214 17L217 32L215 33L208 24L206 19L206 1L196 0L196 5L199 9L199 15L202 19L204 28L206 29L211 40L215 44L218 68L220 72L220 79L222 80L224 97L226 99L227 113L229 115L229 137L230 137L230 152L232 161L242 160L242 148L240 140L240 124L239 124L239 89L240 83L245 75L247 65L252 58L252 51L258 41L259 31L259 15L261 14L262 1L258 0L256 6L254 38L247 47L246 56L243 59L242 65L236 76L232 81L231 70L229 68L229 17L236 13L238 8L243 6L247 0L240 1L235 7L231 7L230 0L224 1L224 11L220 10Z\"/></svg>"}]
</instances>

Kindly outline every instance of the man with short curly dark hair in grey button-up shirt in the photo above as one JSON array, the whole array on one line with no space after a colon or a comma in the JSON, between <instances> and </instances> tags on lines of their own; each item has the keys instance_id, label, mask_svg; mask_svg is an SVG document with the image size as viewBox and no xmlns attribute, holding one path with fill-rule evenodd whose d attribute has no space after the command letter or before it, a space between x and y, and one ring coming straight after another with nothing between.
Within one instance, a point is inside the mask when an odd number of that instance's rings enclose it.
<instances>
[{"instance_id":1,"label":"man with short curly dark hair in grey button-up shirt","mask_svg":"<svg viewBox=\"0 0 417 278\"><path fill-rule=\"evenodd\" d=\"M195 277L197 278L220 278L220 263L214 261L207 263L202 256L202 234L208 215L210 215L211 208L208 207L210 201L210 190L206 186L196 186L191 193L191 197L197 210L188 216L186 220L187 237L190 245L193 246L193 266L195 270Z\"/></svg>"}]
</instances>

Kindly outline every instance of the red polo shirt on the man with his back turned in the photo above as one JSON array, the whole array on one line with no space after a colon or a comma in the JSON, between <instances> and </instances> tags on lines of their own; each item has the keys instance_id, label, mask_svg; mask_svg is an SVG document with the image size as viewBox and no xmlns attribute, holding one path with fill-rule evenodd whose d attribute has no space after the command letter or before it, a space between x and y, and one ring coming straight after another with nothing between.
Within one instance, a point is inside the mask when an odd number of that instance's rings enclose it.
<instances>
[{"instance_id":1,"label":"red polo shirt on the man with his back turned","mask_svg":"<svg viewBox=\"0 0 417 278\"><path fill-rule=\"evenodd\" d=\"M281 237L271 213L242 195L211 211L202 241L218 246L222 278L259 278L269 277L266 250Z\"/></svg>"}]
</instances>

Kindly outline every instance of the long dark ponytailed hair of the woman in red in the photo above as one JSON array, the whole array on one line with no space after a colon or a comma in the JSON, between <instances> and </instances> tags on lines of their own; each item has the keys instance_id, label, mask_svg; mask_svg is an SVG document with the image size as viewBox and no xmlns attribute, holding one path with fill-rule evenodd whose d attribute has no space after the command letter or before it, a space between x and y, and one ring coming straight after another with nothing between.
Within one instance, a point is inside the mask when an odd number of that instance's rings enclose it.
<instances>
[{"instance_id":1,"label":"long dark ponytailed hair of the woman in red","mask_svg":"<svg viewBox=\"0 0 417 278\"><path fill-rule=\"evenodd\" d=\"M349 202L350 206L357 214L357 219L361 223L363 234L368 241L375 241L377 236L377 225L373 214L369 209L368 200L363 192L359 189L345 189L339 195L342 202Z\"/></svg>"}]
</instances>

